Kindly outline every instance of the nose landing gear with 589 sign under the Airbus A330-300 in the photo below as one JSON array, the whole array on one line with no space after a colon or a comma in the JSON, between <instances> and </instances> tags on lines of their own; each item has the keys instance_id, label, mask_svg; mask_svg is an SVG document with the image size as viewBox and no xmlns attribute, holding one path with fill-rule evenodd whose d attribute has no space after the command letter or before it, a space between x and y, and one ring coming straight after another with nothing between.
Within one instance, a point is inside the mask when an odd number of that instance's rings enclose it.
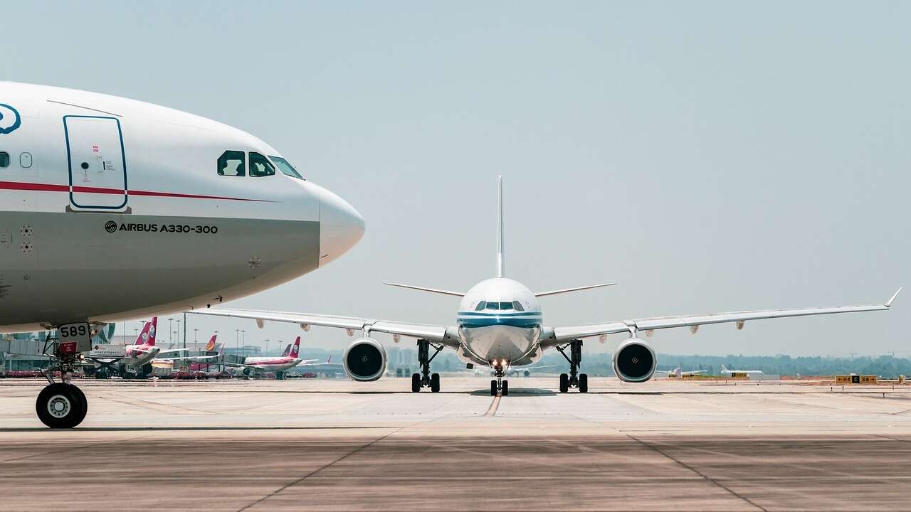
<instances>
[{"instance_id":1,"label":"nose landing gear with 589 sign under the Airbus A330-300","mask_svg":"<svg viewBox=\"0 0 911 512\"><path fill-rule=\"evenodd\" d=\"M35 412L41 423L51 428L73 428L82 423L88 412L88 400L76 385L70 384L70 375L79 363L78 353L61 353L59 345L54 353L56 367L46 370L48 384L35 402ZM63 382L54 382L54 372L60 372Z\"/></svg>"}]
</instances>

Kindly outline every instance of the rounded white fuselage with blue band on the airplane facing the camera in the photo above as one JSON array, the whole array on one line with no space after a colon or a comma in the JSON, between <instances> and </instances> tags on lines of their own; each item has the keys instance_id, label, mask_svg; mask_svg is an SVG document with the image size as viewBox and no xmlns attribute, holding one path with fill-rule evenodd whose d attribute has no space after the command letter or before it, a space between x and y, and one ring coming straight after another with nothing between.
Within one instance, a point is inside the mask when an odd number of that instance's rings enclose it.
<instances>
[{"instance_id":1,"label":"rounded white fuselage with blue band on the airplane facing the camera","mask_svg":"<svg viewBox=\"0 0 911 512\"><path fill-rule=\"evenodd\" d=\"M492 278L477 283L459 304L459 357L466 363L507 367L541 357L541 306L522 283Z\"/></svg>"}]
</instances>

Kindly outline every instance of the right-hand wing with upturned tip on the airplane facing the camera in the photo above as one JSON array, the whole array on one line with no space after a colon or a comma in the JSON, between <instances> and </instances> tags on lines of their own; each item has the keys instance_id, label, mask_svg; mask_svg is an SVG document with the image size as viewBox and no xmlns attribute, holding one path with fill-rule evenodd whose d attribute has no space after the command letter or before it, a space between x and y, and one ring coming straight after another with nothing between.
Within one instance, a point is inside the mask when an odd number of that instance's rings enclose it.
<instances>
[{"instance_id":1,"label":"right-hand wing with upturned tip on the airplane facing the camera","mask_svg":"<svg viewBox=\"0 0 911 512\"><path fill-rule=\"evenodd\" d=\"M859 306L836 306L826 308L799 308L788 310L761 310L761 311L743 311L743 312L716 312L708 314L692 314L682 316L660 316L653 318L637 318L631 320L613 321L606 323L586 323L581 325L568 325L564 327L554 327L553 337L542 340L542 345L553 346L558 343L568 342L569 340L579 338L590 338L602 334L628 333L630 331L652 331L655 329L670 329L673 327L690 327L691 331L700 325L710 323L731 323L736 322L738 329L742 328L743 323L748 320L765 320L768 318L788 318L792 316L810 316L816 314L834 314L839 312L868 312L884 311L892 306L896 296L882 304L867 304Z\"/></svg>"}]
</instances>

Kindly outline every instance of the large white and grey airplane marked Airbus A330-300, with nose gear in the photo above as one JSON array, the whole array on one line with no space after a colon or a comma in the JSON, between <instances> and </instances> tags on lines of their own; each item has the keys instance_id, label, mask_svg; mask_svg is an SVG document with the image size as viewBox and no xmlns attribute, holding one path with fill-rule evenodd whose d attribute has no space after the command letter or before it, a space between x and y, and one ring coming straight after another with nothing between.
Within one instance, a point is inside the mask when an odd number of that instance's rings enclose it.
<instances>
[{"instance_id":1,"label":"large white and grey airplane marked Airbus A330-300, with nose gear","mask_svg":"<svg viewBox=\"0 0 911 512\"><path fill-rule=\"evenodd\" d=\"M86 415L68 377L93 330L267 290L364 230L351 205L239 129L15 82L0 82L0 218L0 333L60 333L64 382L49 377L36 404L52 427Z\"/></svg>"}]
</instances>

